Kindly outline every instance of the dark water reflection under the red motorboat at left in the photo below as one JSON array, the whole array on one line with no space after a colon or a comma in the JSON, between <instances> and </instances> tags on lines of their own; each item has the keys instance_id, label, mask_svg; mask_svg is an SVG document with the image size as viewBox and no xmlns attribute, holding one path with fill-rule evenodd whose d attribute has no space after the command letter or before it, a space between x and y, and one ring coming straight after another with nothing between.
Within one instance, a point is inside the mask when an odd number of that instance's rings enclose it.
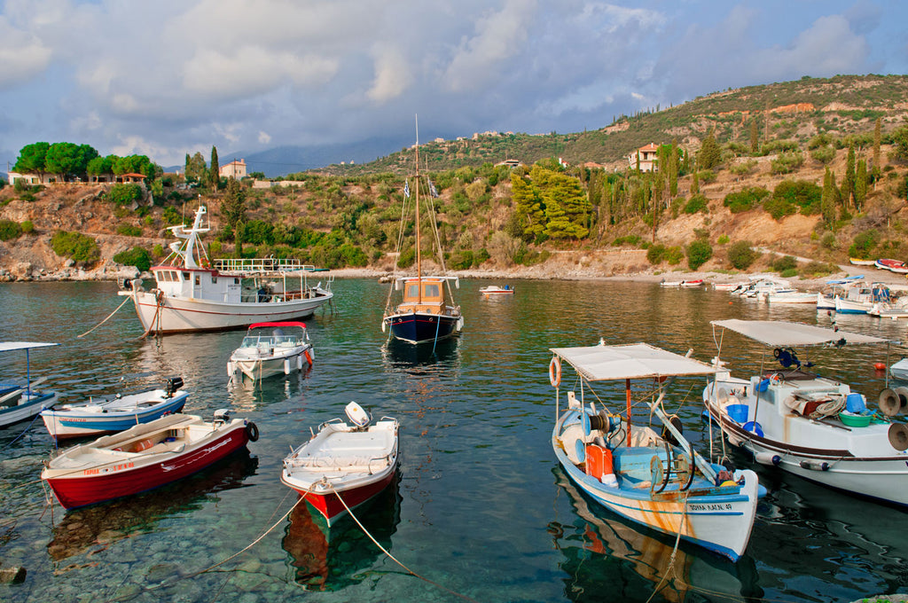
<instances>
[{"instance_id":1,"label":"dark water reflection under the red motorboat at left","mask_svg":"<svg viewBox=\"0 0 908 603\"><path fill-rule=\"evenodd\" d=\"M134 497L64 512L54 525L47 554L54 561L94 555L113 542L149 533L165 517L201 509L218 492L242 488L255 473L258 459L241 450L228 459L162 489Z\"/></svg>"}]
</instances>

